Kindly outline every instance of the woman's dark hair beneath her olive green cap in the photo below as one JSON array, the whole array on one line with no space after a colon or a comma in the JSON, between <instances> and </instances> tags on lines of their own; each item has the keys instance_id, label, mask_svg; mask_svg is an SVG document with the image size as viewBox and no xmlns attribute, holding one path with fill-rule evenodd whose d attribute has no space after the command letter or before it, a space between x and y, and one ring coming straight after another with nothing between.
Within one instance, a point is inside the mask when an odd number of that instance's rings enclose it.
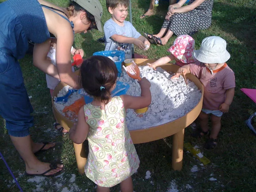
<instances>
[{"instance_id":1,"label":"woman's dark hair beneath her olive green cap","mask_svg":"<svg viewBox=\"0 0 256 192\"><path fill-rule=\"evenodd\" d=\"M74 7L74 9L72 7ZM70 1L67 10L69 12L69 16L76 16L76 13L79 11L86 12L87 20L91 23L90 29L98 29L96 26L94 16L90 14L89 11L87 11L86 9L81 7L79 4L77 4L76 2ZM88 23L84 23L84 24L88 24Z\"/></svg>"}]
</instances>

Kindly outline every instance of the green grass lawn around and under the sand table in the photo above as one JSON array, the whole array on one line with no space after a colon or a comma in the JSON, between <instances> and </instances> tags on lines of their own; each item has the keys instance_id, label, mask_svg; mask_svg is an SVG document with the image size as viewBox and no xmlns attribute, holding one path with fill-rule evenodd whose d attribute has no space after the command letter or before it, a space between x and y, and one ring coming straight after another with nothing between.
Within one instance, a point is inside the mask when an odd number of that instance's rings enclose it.
<instances>
[{"instance_id":1,"label":"green grass lawn around and under the sand table","mask_svg":"<svg viewBox=\"0 0 256 192\"><path fill-rule=\"evenodd\" d=\"M61 6L67 5L67 0L51 0ZM105 1L103 5L102 23L110 18L106 11ZM3 0L0 0L3 2ZM155 9L155 15L146 19L139 19L148 7L148 0L132 0L133 25L142 33L157 33L161 28L164 14L168 6L166 1L160 1ZM99 31L92 31L85 35L75 36L74 46L83 48L86 57L95 51L103 50L104 46L97 42L102 37ZM244 121L256 111L255 103L240 91L240 88L256 89L256 2L252 0L215 0L212 11L212 25L209 29L199 31L193 38L196 40L196 49L199 48L203 38L218 35L227 41L227 50L231 54L228 65L236 75L236 93L230 112L222 118L222 129L219 133L219 143L215 150L203 150L203 140L191 140L192 128L185 129L185 142L192 142L200 147L204 155L210 159L207 166L200 166L200 162L191 154L184 152L183 169L180 172L172 169L172 137L157 140L150 143L137 144L136 150L140 157L140 168L133 175L133 184L136 192L166 192L170 191L173 184L179 191L255 191L256 186L256 136L252 134ZM167 55L168 49L176 37L173 36L167 45L154 46L143 52L135 48L136 53L143 53L150 59L158 59ZM20 60L23 76L29 95L32 95L31 104L34 107L35 127L31 128L31 136L35 141L56 141L55 150L49 150L38 156L42 161L53 162L62 159L65 172L61 177L42 178L37 183L28 182L30 177L23 175L25 165L20 160L17 151L11 143L5 123L0 118L0 151L4 155L11 170L18 178L23 191L56 191L63 192L65 187L70 191L94 191L94 184L86 176L78 174L74 149L67 136L60 136L54 131L54 123L50 94L46 87L45 74L32 65L32 57L26 56ZM198 171L191 172L191 167L198 166ZM151 178L145 180L146 171L150 170ZM0 191L19 191L12 177L0 161ZM76 178L73 182L72 175ZM209 178L217 178L210 181ZM32 178L33 179L33 178ZM71 179L71 180L70 180ZM31 180L29 180L31 181ZM154 182L154 185L150 183ZM176 186L174 185L176 184ZM186 185L192 189L187 189ZM61 185L61 187L57 187ZM119 191L119 186L112 191Z\"/></svg>"}]
</instances>

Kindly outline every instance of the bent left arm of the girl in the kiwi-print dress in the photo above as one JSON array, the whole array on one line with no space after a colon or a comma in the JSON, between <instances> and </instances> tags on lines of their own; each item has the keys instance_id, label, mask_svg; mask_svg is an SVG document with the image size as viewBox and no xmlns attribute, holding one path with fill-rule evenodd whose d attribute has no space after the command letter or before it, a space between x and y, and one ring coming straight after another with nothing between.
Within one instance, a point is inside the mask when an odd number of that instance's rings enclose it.
<instances>
[{"instance_id":1,"label":"bent left arm of the girl in the kiwi-print dress","mask_svg":"<svg viewBox=\"0 0 256 192\"><path fill-rule=\"evenodd\" d=\"M84 116L84 108L78 112L78 122L69 130L69 139L76 144L81 144L86 140L89 131L89 125L86 123Z\"/></svg>"}]
</instances>

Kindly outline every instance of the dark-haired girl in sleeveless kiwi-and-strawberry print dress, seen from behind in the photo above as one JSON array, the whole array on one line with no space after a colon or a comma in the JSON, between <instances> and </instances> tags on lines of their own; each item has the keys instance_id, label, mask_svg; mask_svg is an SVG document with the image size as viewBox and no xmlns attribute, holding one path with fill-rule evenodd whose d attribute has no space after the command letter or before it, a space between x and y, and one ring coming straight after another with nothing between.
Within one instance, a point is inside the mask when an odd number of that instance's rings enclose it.
<instances>
[{"instance_id":1,"label":"dark-haired girl in sleeveless kiwi-and-strawberry print dress, seen from behind","mask_svg":"<svg viewBox=\"0 0 256 192\"><path fill-rule=\"evenodd\" d=\"M84 172L97 184L97 192L109 192L120 184L121 192L133 192L132 174L139 167L139 157L125 122L125 109L141 109L151 103L150 82L139 81L141 96L111 97L116 87L117 68L104 56L84 60L80 84L94 100L78 113L78 122L69 130L77 144L89 142L89 155Z\"/></svg>"}]
</instances>

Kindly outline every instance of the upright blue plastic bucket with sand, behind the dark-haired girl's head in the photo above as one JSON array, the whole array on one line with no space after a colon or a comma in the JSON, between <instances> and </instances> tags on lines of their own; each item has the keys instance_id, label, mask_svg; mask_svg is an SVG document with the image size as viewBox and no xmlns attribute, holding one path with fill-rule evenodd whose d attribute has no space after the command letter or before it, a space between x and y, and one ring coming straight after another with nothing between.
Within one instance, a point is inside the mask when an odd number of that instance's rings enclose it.
<instances>
[{"instance_id":1,"label":"upright blue plastic bucket with sand, behind the dark-haired girl's head","mask_svg":"<svg viewBox=\"0 0 256 192\"><path fill-rule=\"evenodd\" d=\"M101 55L101 56L110 56L110 57L114 57L114 56L117 56L121 59L121 61L116 61L115 64L116 64L116 68L118 70L118 77L121 76L122 74L122 63L125 59L125 53L124 51L116 51L116 50L113 50L113 51L98 51L98 52L95 52L93 53L93 55Z\"/></svg>"}]
</instances>

